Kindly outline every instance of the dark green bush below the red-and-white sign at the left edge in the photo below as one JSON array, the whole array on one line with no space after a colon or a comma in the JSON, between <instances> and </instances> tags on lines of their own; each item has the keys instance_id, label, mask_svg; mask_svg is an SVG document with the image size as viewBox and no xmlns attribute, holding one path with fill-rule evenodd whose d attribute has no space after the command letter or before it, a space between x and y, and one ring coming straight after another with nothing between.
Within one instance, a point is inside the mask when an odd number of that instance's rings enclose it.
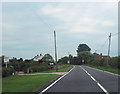
<instances>
[{"instance_id":1,"label":"dark green bush below the red-and-white sign at the left edge","mask_svg":"<svg viewBox=\"0 0 120 94\"><path fill-rule=\"evenodd\" d=\"M15 70L13 67L2 68L2 77L10 76L12 75L12 73L15 73Z\"/></svg>"}]
</instances>

